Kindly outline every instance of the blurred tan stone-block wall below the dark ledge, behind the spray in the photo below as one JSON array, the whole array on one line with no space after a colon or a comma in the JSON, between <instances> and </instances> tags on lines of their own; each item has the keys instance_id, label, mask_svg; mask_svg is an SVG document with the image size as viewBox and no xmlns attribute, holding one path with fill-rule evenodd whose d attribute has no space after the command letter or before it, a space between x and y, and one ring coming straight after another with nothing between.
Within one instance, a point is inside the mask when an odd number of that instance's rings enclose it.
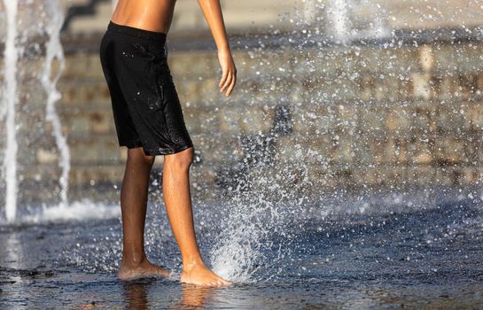
<instances>
[{"instance_id":1,"label":"blurred tan stone-block wall below the dark ledge, behind the spray","mask_svg":"<svg viewBox=\"0 0 483 310\"><path fill-rule=\"evenodd\" d=\"M197 150L195 197L217 198L247 180L309 197L340 187L479 183L483 43L406 42L235 44L239 80L228 99L217 89L213 50L175 48L169 65ZM117 145L97 50L79 50L66 55L58 83L72 153L70 195L114 199L126 150ZM34 156L22 159L22 184L33 184L32 195L39 182L58 178L55 144L38 141Z\"/></svg>"}]
</instances>

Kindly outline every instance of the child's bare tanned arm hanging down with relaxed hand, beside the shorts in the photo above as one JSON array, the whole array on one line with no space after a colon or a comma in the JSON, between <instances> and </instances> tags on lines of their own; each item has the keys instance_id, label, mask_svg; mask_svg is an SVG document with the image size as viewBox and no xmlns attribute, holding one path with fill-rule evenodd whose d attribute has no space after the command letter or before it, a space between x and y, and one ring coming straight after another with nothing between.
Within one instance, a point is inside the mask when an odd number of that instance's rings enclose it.
<instances>
[{"instance_id":1,"label":"child's bare tanned arm hanging down with relaxed hand, beside the shorts","mask_svg":"<svg viewBox=\"0 0 483 310\"><path fill-rule=\"evenodd\" d=\"M208 27L214 37L214 43L218 49L218 60L222 66L222 79L218 86L220 92L229 97L237 83L237 67L231 56L230 44L228 43L225 23L223 21L220 0L198 0L201 12L205 15Z\"/></svg>"}]
</instances>

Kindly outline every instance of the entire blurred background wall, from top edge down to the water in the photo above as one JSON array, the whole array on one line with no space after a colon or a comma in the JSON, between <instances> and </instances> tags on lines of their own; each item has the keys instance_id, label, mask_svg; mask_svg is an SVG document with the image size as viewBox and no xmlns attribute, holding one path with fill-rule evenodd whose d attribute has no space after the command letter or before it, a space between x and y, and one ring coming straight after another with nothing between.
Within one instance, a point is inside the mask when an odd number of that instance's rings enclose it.
<instances>
[{"instance_id":1,"label":"entire blurred background wall, from top edge down to the water","mask_svg":"<svg viewBox=\"0 0 483 310\"><path fill-rule=\"evenodd\" d=\"M113 3L61 3L66 69L57 106L72 153L70 196L115 200L126 150L117 145L98 59ZM340 188L481 182L480 1L231 0L222 6L239 72L230 99L217 90L214 43L197 1L177 1L169 34L169 64L197 151L195 198L222 197L263 175L314 198ZM32 92L24 104L42 105L42 90L21 84ZM41 112L23 111L20 126L42 119ZM55 143L50 135L31 140L37 143L22 144L32 155L19 159L21 188L25 197L55 200ZM158 173L160 166L153 177Z\"/></svg>"}]
</instances>

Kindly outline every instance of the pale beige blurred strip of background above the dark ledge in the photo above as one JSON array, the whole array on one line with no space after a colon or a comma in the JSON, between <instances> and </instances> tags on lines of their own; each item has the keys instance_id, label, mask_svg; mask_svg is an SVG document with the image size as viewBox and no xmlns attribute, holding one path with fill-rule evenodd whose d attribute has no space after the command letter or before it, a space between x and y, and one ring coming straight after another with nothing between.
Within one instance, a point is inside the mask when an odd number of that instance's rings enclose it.
<instances>
[{"instance_id":1,"label":"pale beige blurred strip of background above the dark ledge","mask_svg":"<svg viewBox=\"0 0 483 310\"><path fill-rule=\"evenodd\" d=\"M115 1L115 0L114 0ZM296 28L300 15L306 22L316 22L328 15L334 3L343 3L351 19L373 19L380 13L386 27L475 27L483 24L480 1L471 0L222 0L225 21L230 33L260 32L275 27ZM112 0L61 0L72 34L96 33L105 29L113 12ZM172 35L186 32L206 33L206 22L196 0L178 0ZM331 15L331 12L329 12ZM292 19L292 20L291 20Z\"/></svg>"}]
</instances>

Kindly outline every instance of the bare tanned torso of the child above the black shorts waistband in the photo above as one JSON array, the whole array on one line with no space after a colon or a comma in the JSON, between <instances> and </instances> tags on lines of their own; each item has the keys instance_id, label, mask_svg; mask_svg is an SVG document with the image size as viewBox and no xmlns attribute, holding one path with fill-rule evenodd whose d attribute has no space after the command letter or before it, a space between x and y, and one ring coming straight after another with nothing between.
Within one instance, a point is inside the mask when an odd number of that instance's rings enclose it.
<instances>
[{"instance_id":1,"label":"bare tanned torso of the child above the black shorts waistband","mask_svg":"<svg viewBox=\"0 0 483 310\"><path fill-rule=\"evenodd\" d=\"M119 0L113 13L113 23L167 34L175 0Z\"/></svg>"}]
</instances>

